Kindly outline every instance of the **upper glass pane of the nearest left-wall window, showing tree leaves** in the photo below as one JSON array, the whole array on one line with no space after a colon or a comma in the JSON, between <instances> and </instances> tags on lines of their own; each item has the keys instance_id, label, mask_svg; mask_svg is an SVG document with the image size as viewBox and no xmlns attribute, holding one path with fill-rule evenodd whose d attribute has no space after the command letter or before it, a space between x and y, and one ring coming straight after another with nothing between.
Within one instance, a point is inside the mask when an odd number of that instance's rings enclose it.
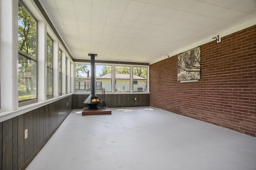
<instances>
[{"instance_id":1,"label":"upper glass pane of the nearest left-wall window, showing tree leaves","mask_svg":"<svg viewBox=\"0 0 256 170\"><path fill-rule=\"evenodd\" d=\"M18 48L36 58L36 21L20 2L18 8Z\"/></svg>"}]
</instances>

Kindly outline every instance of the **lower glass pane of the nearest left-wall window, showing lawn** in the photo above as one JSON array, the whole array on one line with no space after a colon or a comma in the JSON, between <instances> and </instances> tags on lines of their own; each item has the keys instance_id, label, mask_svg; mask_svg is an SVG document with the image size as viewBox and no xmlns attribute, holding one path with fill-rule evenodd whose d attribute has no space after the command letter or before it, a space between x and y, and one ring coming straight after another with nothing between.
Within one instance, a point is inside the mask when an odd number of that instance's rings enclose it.
<instances>
[{"instance_id":1,"label":"lower glass pane of the nearest left-wall window, showing lawn","mask_svg":"<svg viewBox=\"0 0 256 170\"><path fill-rule=\"evenodd\" d=\"M18 101L37 98L36 62L19 55L18 60Z\"/></svg>"}]
</instances>

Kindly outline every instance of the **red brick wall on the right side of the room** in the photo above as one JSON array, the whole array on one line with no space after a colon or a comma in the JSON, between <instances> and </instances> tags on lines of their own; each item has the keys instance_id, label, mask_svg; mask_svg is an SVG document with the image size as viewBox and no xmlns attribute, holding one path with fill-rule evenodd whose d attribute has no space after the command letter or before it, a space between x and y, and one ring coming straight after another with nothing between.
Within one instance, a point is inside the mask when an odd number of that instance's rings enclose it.
<instances>
[{"instance_id":1,"label":"red brick wall on the right side of the room","mask_svg":"<svg viewBox=\"0 0 256 170\"><path fill-rule=\"evenodd\" d=\"M150 65L150 106L256 136L256 25L201 46L201 79L180 83L177 57Z\"/></svg>"}]
</instances>

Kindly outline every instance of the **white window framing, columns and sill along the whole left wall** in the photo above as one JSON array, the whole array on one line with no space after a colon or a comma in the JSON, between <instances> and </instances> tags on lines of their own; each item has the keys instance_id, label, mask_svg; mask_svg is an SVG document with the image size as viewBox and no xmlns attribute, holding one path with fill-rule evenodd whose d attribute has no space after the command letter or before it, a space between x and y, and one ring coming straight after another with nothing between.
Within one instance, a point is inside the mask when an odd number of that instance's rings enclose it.
<instances>
[{"instance_id":1,"label":"white window framing, columns and sill along the whole left wall","mask_svg":"<svg viewBox=\"0 0 256 170\"><path fill-rule=\"evenodd\" d=\"M60 41L48 25L44 16L40 13L40 10L36 6L35 2L31 0L22 0L22 2L28 8L28 11L34 16L38 23L38 102L22 107L18 106L18 0L0 0L0 82L2 82L0 88L0 122L58 101L62 98L66 98L67 96L71 96L74 92L74 86L72 87L73 84L70 84L68 88L68 94L59 97L58 88L55 88L54 91L57 92L57 95L49 100L46 99L47 33L53 39L53 43L55 43L53 45L54 48L56 47L57 53L59 48L65 52L66 50L64 47L62 47L62 45L59 45L61 44ZM74 82L74 76L72 76L72 74L74 74L74 63L69 56L66 57L68 57L70 63L70 71L68 72L70 80L68 81ZM58 54L56 58L58 60ZM57 64L57 67L55 66L54 69L56 69L56 71L53 70L53 74L56 72L58 76L58 62L55 63ZM54 80L57 80L57 83L55 82L54 84L58 87L58 78L54 78ZM65 81L65 78L63 81Z\"/></svg>"}]
</instances>

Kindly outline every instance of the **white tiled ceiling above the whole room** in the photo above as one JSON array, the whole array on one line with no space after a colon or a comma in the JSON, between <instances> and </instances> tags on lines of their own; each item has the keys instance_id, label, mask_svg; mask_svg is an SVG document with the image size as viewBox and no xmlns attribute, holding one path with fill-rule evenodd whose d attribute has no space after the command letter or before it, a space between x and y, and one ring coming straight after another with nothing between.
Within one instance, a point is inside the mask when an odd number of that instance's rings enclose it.
<instances>
[{"instance_id":1,"label":"white tiled ceiling above the whole room","mask_svg":"<svg viewBox=\"0 0 256 170\"><path fill-rule=\"evenodd\" d=\"M151 63L256 18L256 0L40 2L73 59Z\"/></svg>"}]
</instances>

